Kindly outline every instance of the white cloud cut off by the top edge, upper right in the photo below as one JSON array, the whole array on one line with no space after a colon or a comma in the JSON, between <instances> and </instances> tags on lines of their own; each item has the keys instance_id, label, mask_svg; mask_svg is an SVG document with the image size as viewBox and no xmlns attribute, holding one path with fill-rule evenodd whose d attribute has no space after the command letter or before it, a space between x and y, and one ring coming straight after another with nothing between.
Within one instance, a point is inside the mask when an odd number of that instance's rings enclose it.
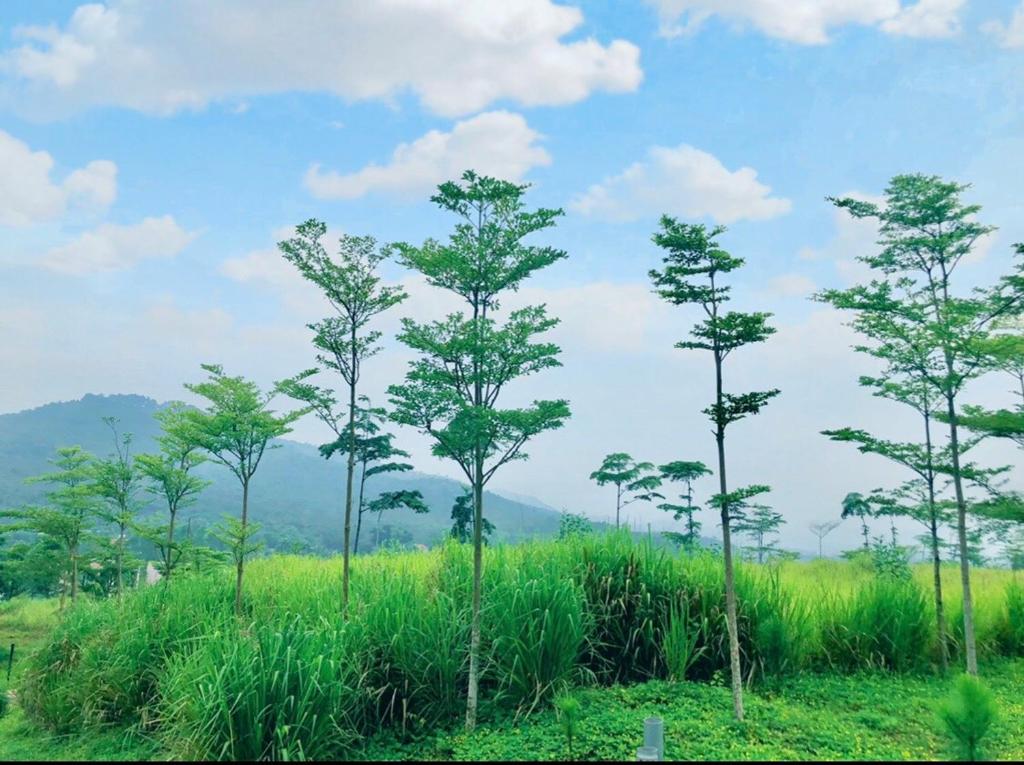
<instances>
[{"instance_id":1,"label":"white cloud cut off by the top edge, upper right","mask_svg":"<svg viewBox=\"0 0 1024 765\"><path fill-rule=\"evenodd\" d=\"M676 37L696 31L712 16L751 26L769 37L822 45L833 29L879 27L890 35L951 37L959 31L967 0L646 0L658 13L660 32Z\"/></svg>"}]
</instances>

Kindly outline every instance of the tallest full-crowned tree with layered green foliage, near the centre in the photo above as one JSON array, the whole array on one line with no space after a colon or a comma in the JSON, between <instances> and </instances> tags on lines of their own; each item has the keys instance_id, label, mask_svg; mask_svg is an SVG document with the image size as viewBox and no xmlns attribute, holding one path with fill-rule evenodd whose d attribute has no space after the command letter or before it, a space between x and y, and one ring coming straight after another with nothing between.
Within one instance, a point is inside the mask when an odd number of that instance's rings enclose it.
<instances>
[{"instance_id":1,"label":"tallest full-crowned tree with layered green foliage, near the centre","mask_svg":"<svg viewBox=\"0 0 1024 765\"><path fill-rule=\"evenodd\" d=\"M402 385L389 388L393 419L433 439L433 453L459 465L473 491L473 602L470 629L466 727L476 724L480 672L480 592L483 569L483 486L523 445L569 416L564 400L534 401L499 409L499 397L515 379L559 366L558 346L536 338L557 324L544 306L512 311L504 326L493 313L502 293L516 290L540 268L565 257L523 240L549 228L561 210L523 208L524 185L467 171L431 200L458 218L447 242L397 244L403 264L429 284L465 301L468 313L439 322L402 320L399 339L419 353Z\"/></svg>"}]
</instances>

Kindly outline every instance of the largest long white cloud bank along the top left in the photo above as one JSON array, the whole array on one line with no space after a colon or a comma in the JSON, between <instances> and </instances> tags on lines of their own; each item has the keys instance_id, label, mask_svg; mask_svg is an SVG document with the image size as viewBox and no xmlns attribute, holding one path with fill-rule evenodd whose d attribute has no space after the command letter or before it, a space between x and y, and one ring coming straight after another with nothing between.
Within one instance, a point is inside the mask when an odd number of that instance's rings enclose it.
<instances>
[{"instance_id":1,"label":"largest long white cloud bank along the top left","mask_svg":"<svg viewBox=\"0 0 1024 765\"><path fill-rule=\"evenodd\" d=\"M460 116L500 99L572 103L632 91L625 40L563 41L583 13L552 0L109 0L63 28L20 27L0 65L37 110L118 105L169 114L289 90L346 100L412 91Z\"/></svg>"}]
</instances>

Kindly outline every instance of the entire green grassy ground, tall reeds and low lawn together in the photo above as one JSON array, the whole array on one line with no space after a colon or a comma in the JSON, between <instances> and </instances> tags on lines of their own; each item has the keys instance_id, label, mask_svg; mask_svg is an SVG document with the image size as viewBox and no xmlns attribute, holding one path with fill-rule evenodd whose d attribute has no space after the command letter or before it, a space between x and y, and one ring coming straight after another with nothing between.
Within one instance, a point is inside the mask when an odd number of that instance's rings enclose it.
<instances>
[{"instance_id":1,"label":"entire green grassy ground, tall reeds and low lawn together","mask_svg":"<svg viewBox=\"0 0 1024 765\"><path fill-rule=\"evenodd\" d=\"M927 568L911 582L838 561L741 568L752 691L736 725L719 560L615 535L490 549L481 725L467 736L470 566L458 545L359 557L347 623L340 562L291 556L252 563L241 621L226 572L81 602L52 634L52 603L8 606L38 649L16 663L0 759L565 759L551 698L567 688L584 710L578 757L632 759L648 714L686 759L945 756ZM955 638L955 567L944 579ZM974 582L1002 710L990 753L1021 757L1021 587L1004 570Z\"/></svg>"}]
</instances>

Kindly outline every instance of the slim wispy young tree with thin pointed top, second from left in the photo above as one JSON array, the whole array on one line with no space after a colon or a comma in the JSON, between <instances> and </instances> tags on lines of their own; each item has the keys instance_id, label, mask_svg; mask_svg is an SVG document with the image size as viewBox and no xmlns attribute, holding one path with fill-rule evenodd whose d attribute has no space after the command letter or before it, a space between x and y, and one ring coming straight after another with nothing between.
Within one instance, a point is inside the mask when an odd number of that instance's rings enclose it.
<instances>
[{"instance_id":1,"label":"slim wispy young tree with thin pointed top, second from left","mask_svg":"<svg viewBox=\"0 0 1024 765\"><path fill-rule=\"evenodd\" d=\"M93 469L96 473L96 494L105 505L100 512L100 517L114 523L118 529L118 538L114 543L114 557L117 569L116 587L120 598L124 594L127 530L141 509L141 503L138 500L140 475L131 454L131 433L118 432L118 419L116 417L104 417L103 423L111 429L114 436L114 454L105 459L96 460Z\"/></svg>"}]
</instances>

